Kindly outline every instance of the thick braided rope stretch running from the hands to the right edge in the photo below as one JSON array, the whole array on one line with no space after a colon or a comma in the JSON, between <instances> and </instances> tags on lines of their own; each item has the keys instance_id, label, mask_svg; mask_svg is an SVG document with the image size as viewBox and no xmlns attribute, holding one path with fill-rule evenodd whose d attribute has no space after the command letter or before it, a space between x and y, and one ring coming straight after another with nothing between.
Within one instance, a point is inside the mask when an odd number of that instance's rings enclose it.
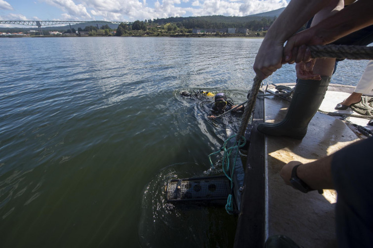
<instances>
[{"instance_id":1,"label":"thick braided rope stretch running from the hands to the right edge","mask_svg":"<svg viewBox=\"0 0 373 248\"><path fill-rule=\"evenodd\" d=\"M372 46L325 45L308 46L312 58L373 60Z\"/></svg>"}]
</instances>

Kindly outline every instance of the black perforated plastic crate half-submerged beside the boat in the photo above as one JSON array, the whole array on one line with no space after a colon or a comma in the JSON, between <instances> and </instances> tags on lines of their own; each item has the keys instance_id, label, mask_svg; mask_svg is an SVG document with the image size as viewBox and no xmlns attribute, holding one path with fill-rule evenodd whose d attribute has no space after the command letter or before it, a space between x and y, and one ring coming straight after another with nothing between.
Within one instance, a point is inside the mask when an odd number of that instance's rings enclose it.
<instances>
[{"instance_id":1,"label":"black perforated plastic crate half-submerged beside the boat","mask_svg":"<svg viewBox=\"0 0 373 248\"><path fill-rule=\"evenodd\" d=\"M226 204L230 193L225 176L172 179L166 186L166 201L170 203Z\"/></svg>"}]
</instances>

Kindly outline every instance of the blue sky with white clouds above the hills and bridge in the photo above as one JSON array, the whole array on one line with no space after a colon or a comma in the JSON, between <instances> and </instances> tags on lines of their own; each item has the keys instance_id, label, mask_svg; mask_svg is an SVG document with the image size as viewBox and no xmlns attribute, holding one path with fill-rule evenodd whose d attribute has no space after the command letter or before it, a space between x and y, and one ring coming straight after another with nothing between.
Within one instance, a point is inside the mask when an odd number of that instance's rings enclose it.
<instances>
[{"instance_id":1,"label":"blue sky with white clouds above the hills and bridge","mask_svg":"<svg viewBox=\"0 0 373 248\"><path fill-rule=\"evenodd\" d=\"M167 17L247 16L290 0L0 0L0 20L123 21ZM0 27L14 25L0 24Z\"/></svg>"}]
</instances>

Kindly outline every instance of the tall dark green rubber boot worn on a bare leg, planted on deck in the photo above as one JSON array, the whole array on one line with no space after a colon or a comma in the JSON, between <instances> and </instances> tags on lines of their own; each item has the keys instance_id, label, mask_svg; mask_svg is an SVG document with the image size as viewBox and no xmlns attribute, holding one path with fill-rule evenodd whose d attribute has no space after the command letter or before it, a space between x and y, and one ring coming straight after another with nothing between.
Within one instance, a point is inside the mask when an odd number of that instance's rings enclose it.
<instances>
[{"instance_id":1,"label":"tall dark green rubber boot worn on a bare leg, planted on deck","mask_svg":"<svg viewBox=\"0 0 373 248\"><path fill-rule=\"evenodd\" d=\"M308 123L324 100L330 80L330 76L321 80L299 79L285 118L276 124L261 123L257 130L266 135L303 139Z\"/></svg>"}]
</instances>

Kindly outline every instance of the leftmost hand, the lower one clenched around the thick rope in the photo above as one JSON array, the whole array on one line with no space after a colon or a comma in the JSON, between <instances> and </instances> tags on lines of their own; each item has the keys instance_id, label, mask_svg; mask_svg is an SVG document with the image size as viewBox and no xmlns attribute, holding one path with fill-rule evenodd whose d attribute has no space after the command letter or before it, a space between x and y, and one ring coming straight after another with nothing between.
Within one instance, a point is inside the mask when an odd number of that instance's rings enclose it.
<instances>
[{"instance_id":1,"label":"leftmost hand, the lower one clenched around the thick rope","mask_svg":"<svg viewBox=\"0 0 373 248\"><path fill-rule=\"evenodd\" d=\"M282 67L283 50L283 43L276 44L271 40L263 40L253 66L256 76L260 80L264 80Z\"/></svg>"}]
</instances>

